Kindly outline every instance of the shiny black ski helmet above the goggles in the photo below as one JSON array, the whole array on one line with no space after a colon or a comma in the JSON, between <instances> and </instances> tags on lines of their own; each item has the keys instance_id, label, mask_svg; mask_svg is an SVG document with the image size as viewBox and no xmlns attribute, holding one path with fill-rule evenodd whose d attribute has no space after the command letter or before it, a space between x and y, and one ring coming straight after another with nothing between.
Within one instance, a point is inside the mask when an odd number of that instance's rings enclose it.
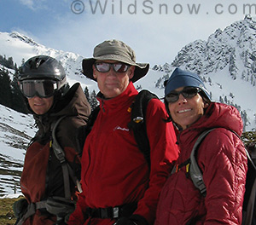
<instances>
[{"instance_id":1,"label":"shiny black ski helmet above the goggles","mask_svg":"<svg viewBox=\"0 0 256 225\"><path fill-rule=\"evenodd\" d=\"M58 89L67 84L66 73L61 63L48 55L28 59L21 68L18 80L50 79L58 83Z\"/></svg>"}]
</instances>

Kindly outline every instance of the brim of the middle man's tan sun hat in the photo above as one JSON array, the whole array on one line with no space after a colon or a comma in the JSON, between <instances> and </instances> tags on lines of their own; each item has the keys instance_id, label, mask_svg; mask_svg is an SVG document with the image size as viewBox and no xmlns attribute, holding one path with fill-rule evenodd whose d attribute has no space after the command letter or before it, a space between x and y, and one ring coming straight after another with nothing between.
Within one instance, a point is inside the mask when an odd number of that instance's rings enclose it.
<instances>
[{"instance_id":1,"label":"brim of the middle man's tan sun hat","mask_svg":"<svg viewBox=\"0 0 256 225\"><path fill-rule=\"evenodd\" d=\"M93 69L92 65L95 63L95 61L120 61L124 62L128 65L135 66L134 76L131 78L131 82L135 83L140 78L143 78L149 69L148 63L135 63L133 61L127 61L122 57L119 57L119 55L102 55L100 57L95 58L88 58L84 59L82 62L83 67L83 74L86 78L90 78L94 81L96 81L96 78L93 77Z\"/></svg>"}]
</instances>

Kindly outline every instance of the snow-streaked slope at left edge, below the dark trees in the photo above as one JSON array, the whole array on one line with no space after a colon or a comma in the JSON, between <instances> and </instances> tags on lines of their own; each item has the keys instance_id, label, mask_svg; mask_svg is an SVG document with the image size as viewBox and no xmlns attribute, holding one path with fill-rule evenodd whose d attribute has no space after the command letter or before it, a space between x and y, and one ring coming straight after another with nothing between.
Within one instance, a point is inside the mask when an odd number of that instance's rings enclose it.
<instances>
[{"instance_id":1,"label":"snow-streaked slope at left edge, below the dark trees","mask_svg":"<svg viewBox=\"0 0 256 225\"><path fill-rule=\"evenodd\" d=\"M32 115L0 105L0 196L20 193L20 174L26 147L35 135Z\"/></svg>"}]
</instances>

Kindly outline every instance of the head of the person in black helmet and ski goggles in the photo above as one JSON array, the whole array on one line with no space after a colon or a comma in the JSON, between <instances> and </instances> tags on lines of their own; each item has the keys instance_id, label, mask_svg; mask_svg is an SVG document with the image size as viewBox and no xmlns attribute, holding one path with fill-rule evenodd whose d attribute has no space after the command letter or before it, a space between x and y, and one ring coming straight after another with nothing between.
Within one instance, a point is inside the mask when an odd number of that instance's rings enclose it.
<instances>
[{"instance_id":1,"label":"head of the person in black helmet and ski goggles","mask_svg":"<svg viewBox=\"0 0 256 225\"><path fill-rule=\"evenodd\" d=\"M26 61L18 80L29 109L38 115L46 114L67 88L66 73L60 62L44 55Z\"/></svg>"}]
</instances>

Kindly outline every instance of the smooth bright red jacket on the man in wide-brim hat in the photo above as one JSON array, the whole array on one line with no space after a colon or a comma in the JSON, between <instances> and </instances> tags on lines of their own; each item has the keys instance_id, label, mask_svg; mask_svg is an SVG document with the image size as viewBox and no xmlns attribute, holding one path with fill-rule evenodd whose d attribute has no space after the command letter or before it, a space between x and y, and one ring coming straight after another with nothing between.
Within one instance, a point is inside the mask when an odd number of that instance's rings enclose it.
<instances>
[{"instance_id":1,"label":"smooth bright red jacket on the man in wide-brim hat","mask_svg":"<svg viewBox=\"0 0 256 225\"><path fill-rule=\"evenodd\" d=\"M127 110L138 94L130 83L125 91L109 100L99 99L101 110L86 138L82 156L83 193L68 224L88 224L87 207L106 208L138 202L134 214L154 223L161 187L170 164L177 159L173 126L164 122L166 111L158 99L149 101L147 134L150 142L151 170L128 129ZM110 219L91 219L90 224L113 224Z\"/></svg>"}]
</instances>

